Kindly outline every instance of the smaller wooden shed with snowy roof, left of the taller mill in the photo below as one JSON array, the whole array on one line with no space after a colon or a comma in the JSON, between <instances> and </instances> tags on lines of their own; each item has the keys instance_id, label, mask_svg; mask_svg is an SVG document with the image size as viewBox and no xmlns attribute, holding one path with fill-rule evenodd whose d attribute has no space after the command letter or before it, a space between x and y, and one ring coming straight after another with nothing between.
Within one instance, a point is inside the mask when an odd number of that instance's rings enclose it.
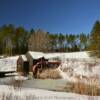
<instances>
[{"instance_id":1,"label":"smaller wooden shed with snowy roof, left of the taller mill","mask_svg":"<svg viewBox=\"0 0 100 100\"><path fill-rule=\"evenodd\" d=\"M27 75L29 73L29 62L25 55L20 55L17 60L17 72L21 75Z\"/></svg>"}]
</instances>

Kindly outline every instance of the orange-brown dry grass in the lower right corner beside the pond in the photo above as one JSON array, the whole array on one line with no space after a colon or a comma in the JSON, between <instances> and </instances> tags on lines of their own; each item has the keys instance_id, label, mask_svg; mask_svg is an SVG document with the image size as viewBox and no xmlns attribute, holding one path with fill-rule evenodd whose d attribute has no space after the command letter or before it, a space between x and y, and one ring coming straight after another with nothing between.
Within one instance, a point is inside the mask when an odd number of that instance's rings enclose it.
<instances>
[{"instance_id":1,"label":"orange-brown dry grass in the lower right corner beside the pond","mask_svg":"<svg viewBox=\"0 0 100 100\"><path fill-rule=\"evenodd\" d=\"M100 88L96 84L85 84L80 81L69 82L63 87L63 91L74 92L82 95L100 96Z\"/></svg>"}]
</instances>

